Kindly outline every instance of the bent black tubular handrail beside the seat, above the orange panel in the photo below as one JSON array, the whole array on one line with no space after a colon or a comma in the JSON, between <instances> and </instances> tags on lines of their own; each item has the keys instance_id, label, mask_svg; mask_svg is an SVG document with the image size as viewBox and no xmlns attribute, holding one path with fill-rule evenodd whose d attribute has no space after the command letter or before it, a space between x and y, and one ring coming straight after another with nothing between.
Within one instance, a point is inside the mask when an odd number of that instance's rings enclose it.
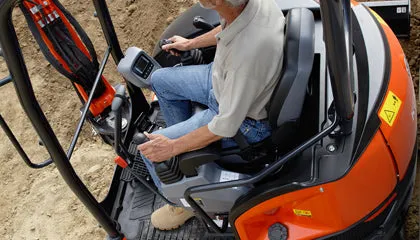
<instances>
[{"instance_id":1,"label":"bent black tubular handrail beside the seat, above the orange panel","mask_svg":"<svg viewBox=\"0 0 420 240\"><path fill-rule=\"evenodd\" d=\"M234 180L234 181L228 181L228 182L220 182L220 183L212 183L212 184L206 184L206 185L200 185L200 186L193 186L188 188L185 193L184 197L185 200L190 204L190 206L194 209L196 213L200 215L200 217L212 228L216 233L222 233L222 229L220 229L213 220L207 215L207 213L194 201L194 199L191 197L192 194L200 193L200 192L209 192L209 191L215 191L220 189L226 189L226 188L233 188L233 187L239 187L239 186L246 186L246 185L252 185L254 183L257 183L264 179L265 177L269 176L273 172L275 172L277 169L279 169L281 166L283 166L285 163L287 163L290 159L295 157L296 155L303 152L305 149L311 147L315 143L319 142L324 137L328 136L331 132L334 131L334 129L337 128L339 124L338 117L335 116L333 123L328 126L326 129L303 143L302 145L296 147L294 150L289 152L283 157L279 157L275 162L270 164L267 168L261 170L256 175Z\"/></svg>"}]
</instances>

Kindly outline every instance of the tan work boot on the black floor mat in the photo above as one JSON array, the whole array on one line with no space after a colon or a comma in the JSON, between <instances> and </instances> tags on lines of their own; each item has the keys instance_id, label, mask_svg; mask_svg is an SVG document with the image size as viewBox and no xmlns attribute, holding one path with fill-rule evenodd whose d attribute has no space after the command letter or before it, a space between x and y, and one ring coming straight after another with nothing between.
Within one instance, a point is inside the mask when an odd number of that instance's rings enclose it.
<instances>
[{"instance_id":1,"label":"tan work boot on the black floor mat","mask_svg":"<svg viewBox=\"0 0 420 240\"><path fill-rule=\"evenodd\" d=\"M179 228L192 217L192 211L166 204L152 213L151 220L153 226L159 230L172 230Z\"/></svg>"}]
</instances>

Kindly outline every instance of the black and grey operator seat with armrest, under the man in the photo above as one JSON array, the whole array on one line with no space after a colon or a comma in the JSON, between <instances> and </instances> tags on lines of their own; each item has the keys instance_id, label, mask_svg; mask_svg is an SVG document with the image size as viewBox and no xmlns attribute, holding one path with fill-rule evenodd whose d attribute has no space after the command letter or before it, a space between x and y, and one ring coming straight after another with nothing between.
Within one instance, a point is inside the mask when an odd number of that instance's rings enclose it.
<instances>
[{"instance_id":1,"label":"black and grey operator seat with armrest, under the man","mask_svg":"<svg viewBox=\"0 0 420 240\"><path fill-rule=\"evenodd\" d=\"M315 21L310 10L297 8L289 11L286 18L283 70L267 106L268 120L273 132L264 142L269 142L271 151L287 148L296 138L314 62L314 32ZM257 145L251 145L249 147L251 151L241 149L238 154L225 155L216 143L204 149L181 154L176 161L179 161L180 172L187 177L197 176L198 167L210 162L217 162L222 168L233 172L249 173L249 170L255 172L262 169L267 161L256 163L242 156L249 153L258 155L258 148L252 152L252 148ZM270 157L271 161L274 160L273 156Z\"/></svg>"}]
</instances>

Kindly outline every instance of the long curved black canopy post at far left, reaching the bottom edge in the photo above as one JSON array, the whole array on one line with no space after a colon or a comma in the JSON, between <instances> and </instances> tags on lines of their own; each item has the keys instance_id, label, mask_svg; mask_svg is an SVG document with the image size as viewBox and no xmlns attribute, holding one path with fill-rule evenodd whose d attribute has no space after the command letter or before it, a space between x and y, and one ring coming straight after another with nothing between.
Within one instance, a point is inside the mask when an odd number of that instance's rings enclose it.
<instances>
[{"instance_id":1,"label":"long curved black canopy post at far left, reaching the bottom edge","mask_svg":"<svg viewBox=\"0 0 420 240\"><path fill-rule=\"evenodd\" d=\"M77 176L35 97L28 71L12 22L12 10L17 0L0 0L0 44L4 59L13 78L19 101L36 132L52 157L58 171L71 190L112 238L122 236L116 222L100 206Z\"/></svg>"}]
</instances>

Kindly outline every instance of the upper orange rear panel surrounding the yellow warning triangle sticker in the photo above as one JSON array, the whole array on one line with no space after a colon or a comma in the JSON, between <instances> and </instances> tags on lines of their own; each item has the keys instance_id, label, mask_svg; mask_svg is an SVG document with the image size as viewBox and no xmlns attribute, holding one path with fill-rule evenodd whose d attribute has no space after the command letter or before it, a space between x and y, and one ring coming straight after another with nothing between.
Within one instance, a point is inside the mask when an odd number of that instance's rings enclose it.
<instances>
[{"instance_id":1,"label":"upper orange rear panel surrounding the yellow warning triangle sticker","mask_svg":"<svg viewBox=\"0 0 420 240\"><path fill-rule=\"evenodd\" d=\"M381 119L381 131L395 157L399 175L401 178L404 178L417 137L417 110L414 87L408 64L406 65L404 52L397 37L391 28L386 25L385 21L378 15L375 16L380 21L391 47L391 81L388 91L392 91L402 101L401 108L392 127ZM383 107L381 107L379 113Z\"/></svg>"}]
</instances>

